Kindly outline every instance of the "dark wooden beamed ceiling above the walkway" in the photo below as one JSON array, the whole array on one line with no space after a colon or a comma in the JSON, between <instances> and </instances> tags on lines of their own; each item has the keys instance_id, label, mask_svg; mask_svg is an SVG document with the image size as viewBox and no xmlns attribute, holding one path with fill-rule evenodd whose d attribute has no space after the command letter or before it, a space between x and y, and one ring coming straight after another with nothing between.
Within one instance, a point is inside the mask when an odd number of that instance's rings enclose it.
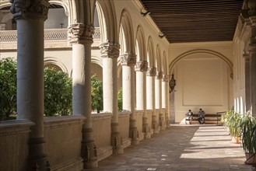
<instances>
[{"instance_id":1,"label":"dark wooden beamed ceiling above the walkway","mask_svg":"<svg viewBox=\"0 0 256 171\"><path fill-rule=\"evenodd\" d=\"M244 0L141 0L170 43L233 40Z\"/></svg>"}]
</instances>

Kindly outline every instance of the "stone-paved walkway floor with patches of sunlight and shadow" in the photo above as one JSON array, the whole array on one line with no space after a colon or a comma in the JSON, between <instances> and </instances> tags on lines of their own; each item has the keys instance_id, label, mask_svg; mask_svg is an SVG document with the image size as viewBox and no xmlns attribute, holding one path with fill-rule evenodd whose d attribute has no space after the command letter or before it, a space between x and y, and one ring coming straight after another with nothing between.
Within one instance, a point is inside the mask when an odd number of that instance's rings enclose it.
<instances>
[{"instance_id":1,"label":"stone-paved walkway floor with patches of sunlight and shadow","mask_svg":"<svg viewBox=\"0 0 256 171\"><path fill-rule=\"evenodd\" d=\"M153 138L112 155L89 171L228 171L253 170L244 152L223 126L171 125Z\"/></svg>"}]
</instances>

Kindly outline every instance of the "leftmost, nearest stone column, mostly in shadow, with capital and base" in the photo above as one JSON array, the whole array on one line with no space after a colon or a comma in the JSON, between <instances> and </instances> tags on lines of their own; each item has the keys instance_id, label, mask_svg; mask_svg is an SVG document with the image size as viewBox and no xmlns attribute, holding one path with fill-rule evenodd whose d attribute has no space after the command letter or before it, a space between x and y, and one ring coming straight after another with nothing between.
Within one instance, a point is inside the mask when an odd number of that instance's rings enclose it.
<instances>
[{"instance_id":1,"label":"leftmost, nearest stone column, mostly in shadow, with capital and base","mask_svg":"<svg viewBox=\"0 0 256 171\"><path fill-rule=\"evenodd\" d=\"M28 142L26 170L44 170L44 20L50 4L47 0L10 2L18 36L17 119L34 123Z\"/></svg>"}]
</instances>

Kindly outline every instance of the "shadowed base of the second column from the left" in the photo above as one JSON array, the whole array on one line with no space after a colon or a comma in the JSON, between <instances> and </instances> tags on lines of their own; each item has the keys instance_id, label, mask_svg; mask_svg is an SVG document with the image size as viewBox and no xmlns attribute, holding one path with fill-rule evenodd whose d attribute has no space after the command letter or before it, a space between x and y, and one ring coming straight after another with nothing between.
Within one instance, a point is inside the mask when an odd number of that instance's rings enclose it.
<instances>
[{"instance_id":1,"label":"shadowed base of the second column from the left","mask_svg":"<svg viewBox=\"0 0 256 171\"><path fill-rule=\"evenodd\" d=\"M83 167L86 169L96 168L98 166L96 145L90 138L91 128L82 129L82 149L81 156L83 159Z\"/></svg>"}]
</instances>

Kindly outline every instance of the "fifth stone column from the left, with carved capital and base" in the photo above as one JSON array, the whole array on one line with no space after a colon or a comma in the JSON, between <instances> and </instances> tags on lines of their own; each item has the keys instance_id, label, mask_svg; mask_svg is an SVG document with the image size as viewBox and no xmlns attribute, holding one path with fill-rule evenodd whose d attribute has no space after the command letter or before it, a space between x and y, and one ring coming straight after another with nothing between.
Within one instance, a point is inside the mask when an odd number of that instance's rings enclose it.
<instances>
[{"instance_id":1,"label":"fifth stone column from the left, with carved capital and base","mask_svg":"<svg viewBox=\"0 0 256 171\"><path fill-rule=\"evenodd\" d=\"M148 70L147 61L137 61L136 71L136 109L143 110L142 131L145 138L151 138L149 130L148 116L146 111L146 71Z\"/></svg>"}]
</instances>

